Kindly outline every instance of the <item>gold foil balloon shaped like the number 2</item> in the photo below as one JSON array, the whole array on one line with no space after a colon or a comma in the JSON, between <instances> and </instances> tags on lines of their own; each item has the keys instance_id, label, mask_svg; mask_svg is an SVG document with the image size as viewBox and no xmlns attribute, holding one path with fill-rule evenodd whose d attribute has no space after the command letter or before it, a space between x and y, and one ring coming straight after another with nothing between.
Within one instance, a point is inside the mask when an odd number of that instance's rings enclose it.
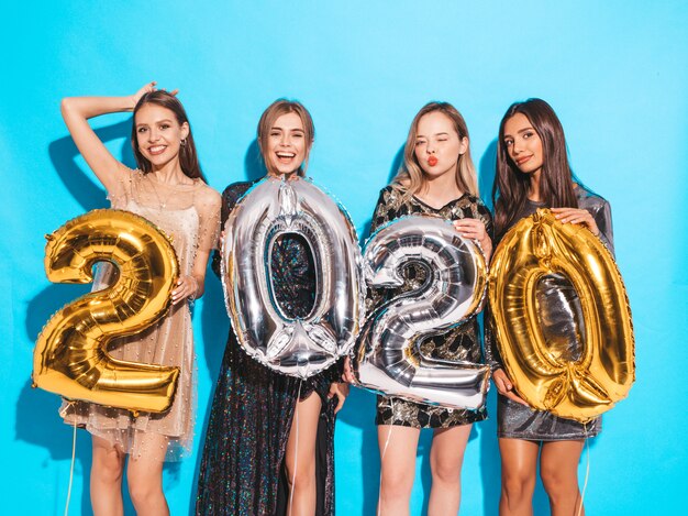
<instances>
[{"instance_id":1,"label":"gold foil balloon shaped like the number 2","mask_svg":"<svg viewBox=\"0 0 688 516\"><path fill-rule=\"evenodd\" d=\"M129 211L93 210L46 235L45 271L54 283L91 283L96 262L114 263L113 285L59 309L36 341L34 386L68 399L160 413L173 402L178 367L112 359L108 343L160 319L178 264L169 239Z\"/></svg>"}]
</instances>

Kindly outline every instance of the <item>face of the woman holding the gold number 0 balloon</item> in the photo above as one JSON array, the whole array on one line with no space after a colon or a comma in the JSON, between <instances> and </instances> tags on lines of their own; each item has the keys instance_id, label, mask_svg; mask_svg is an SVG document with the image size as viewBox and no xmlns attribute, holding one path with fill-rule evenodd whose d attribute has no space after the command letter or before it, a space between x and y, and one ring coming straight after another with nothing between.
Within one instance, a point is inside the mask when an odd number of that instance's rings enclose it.
<instances>
[{"instance_id":1,"label":"face of the woman holding the gold number 0 balloon","mask_svg":"<svg viewBox=\"0 0 688 516\"><path fill-rule=\"evenodd\" d=\"M542 171L542 140L525 114L515 113L504 122L503 144L507 154L522 173L534 174Z\"/></svg>"}]
</instances>

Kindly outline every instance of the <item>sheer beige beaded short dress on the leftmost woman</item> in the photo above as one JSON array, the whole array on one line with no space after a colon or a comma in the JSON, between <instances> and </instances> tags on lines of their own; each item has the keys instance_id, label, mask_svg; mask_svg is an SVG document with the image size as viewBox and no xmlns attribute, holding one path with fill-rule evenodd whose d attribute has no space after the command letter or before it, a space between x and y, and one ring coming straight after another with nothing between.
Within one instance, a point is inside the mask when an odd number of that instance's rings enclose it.
<instances>
[{"instance_id":1,"label":"sheer beige beaded short dress on the leftmost woman","mask_svg":"<svg viewBox=\"0 0 688 516\"><path fill-rule=\"evenodd\" d=\"M167 185L156 180L155 174L126 171L108 197L112 208L144 217L171 238L180 275L191 274L199 251L210 253L218 241L220 194L201 179L193 179L188 185ZM98 268L93 290L111 284L115 274L110 264L100 264ZM163 461L190 454L196 408L196 356L189 304L173 305L169 312L149 328L113 340L108 352L119 360L179 367L171 407L162 414L140 413L134 417L129 410L87 402L65 402L60 408L65 422L86 428L132 457L145 454ZM163 444L155 436L163 438Z\"/></svg>"}]
</instances>

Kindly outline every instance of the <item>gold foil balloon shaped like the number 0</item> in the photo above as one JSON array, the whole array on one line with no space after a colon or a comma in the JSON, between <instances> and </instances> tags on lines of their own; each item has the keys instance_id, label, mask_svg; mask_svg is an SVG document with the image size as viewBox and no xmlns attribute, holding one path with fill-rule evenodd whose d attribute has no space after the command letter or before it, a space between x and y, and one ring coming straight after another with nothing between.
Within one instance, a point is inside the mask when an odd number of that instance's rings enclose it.
<instances>
[{"instance_id":1,"label":"gold foil balloon shaped like the number 0","mask_svg":"<svg viewBox=\"0 0 688 516\"><path fill-rule=\"evenodd\" d=\"M578 360L557 356L540 327L535 289L567 277L582 309ZM619 270L586 228L539 209L502 239L490 267L489 299L507 373L532 407L588 421L623 399L635 376L631 309Z\"/></svg>"}]
</instances>

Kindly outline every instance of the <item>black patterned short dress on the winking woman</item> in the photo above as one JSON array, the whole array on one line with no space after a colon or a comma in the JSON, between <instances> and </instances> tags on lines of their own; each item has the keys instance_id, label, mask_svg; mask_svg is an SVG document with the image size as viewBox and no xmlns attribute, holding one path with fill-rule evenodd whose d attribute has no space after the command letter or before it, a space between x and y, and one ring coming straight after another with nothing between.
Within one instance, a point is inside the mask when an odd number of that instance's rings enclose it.
<instances>
[{"instance_id":1,"label":"black patterned short dress on the winking woman","mask_svg":"<svg viewBox=\"0 0 688 516\"><path fill-rule=\"evenodd\" d=\"M380 190L380 197L370 224L370 233L399 217L425 213L440 216L445 220L479 219L491 238L492 217L478 197L464 194L442 208L436 209L428 206L414 196L404 196L402 189L391 185ZM373 312L388 299L420 288L425 283L425 270L418 265L411 264L406 268L403 275L406 281L402 287L368 290L366 299L368 314ZM469 318L462 326L445 333L423 340L421 353L433 359L481 363L482 352L476 317ZM486 407L477 410L452 409L411 402L397 396L380 395L377 397L375 422L376 425L396 425L412 428L451 428L480 421L486 417Z\"/></svg>"}]
</instances>

